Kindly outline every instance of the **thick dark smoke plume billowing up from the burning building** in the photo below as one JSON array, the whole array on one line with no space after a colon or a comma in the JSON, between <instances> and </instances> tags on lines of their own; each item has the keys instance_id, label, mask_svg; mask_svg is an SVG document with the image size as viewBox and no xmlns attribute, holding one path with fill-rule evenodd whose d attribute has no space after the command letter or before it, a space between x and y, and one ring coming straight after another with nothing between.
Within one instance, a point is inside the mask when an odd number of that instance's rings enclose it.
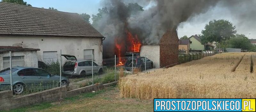
<instances>
[{"instance_id":1,"label":"thick dark smoke plume billowing up from the burning building","mask_svg":"<svg viewBox=\"0 0 256 112\"><path fill-rule=\"evenodd\" d=\"M155 5L144 11L131 13L127 9L129 2L142 6L149 3ZM125 32L129 30L132 34L137 34L143 44L156 45L167 30L176 29L189 17L206 12L218 0L105 0L101 3L109 13L102 17L97 29L106 36L106 43L113 43L113 38L116 37L125 40Z\"/></svg>"}]
</instances>

